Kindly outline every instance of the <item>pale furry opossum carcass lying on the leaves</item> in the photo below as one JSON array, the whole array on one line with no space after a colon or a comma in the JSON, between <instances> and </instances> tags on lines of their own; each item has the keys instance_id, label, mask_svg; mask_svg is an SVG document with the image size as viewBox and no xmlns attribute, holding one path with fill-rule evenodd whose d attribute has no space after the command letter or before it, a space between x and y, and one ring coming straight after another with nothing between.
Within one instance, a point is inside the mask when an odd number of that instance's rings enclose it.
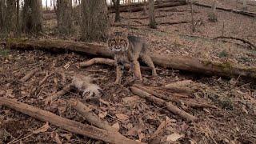
<instances>
[{"instance_id":1,"label":"pale furry opossum carcass lying on the leaves","mask_svg":"<svg viewBox=\"0 0 256 144\"><path fill-rule=\"evenodd\" d=\"M72 77L72 86L82 92L82 96L86 100L98 99L102 96L102 89L92 83L93 78L90 76L83 76L81 74L75 74Z\"/></svg>"}]
</instances>

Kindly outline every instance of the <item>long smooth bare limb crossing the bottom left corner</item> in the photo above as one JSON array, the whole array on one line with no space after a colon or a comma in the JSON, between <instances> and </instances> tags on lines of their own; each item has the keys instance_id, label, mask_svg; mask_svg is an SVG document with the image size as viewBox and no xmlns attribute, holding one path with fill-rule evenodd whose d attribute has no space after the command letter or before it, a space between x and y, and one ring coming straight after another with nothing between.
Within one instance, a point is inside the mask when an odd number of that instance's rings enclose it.
<instances>
[{"instance_id":1,"label":"long smooth bare limb crossing the bottom left corner","mask_svg":"<svg viewBox=\"0 0 256 144\"><path fill-rule=\"evenodd\" d=\"M70 131L74 134L81 134L83 136L102 140L110 143L141 143L130 140L124 136L114 134L112 131L98 129L94 126L84 125L80 122L75 122L70 119L62 118L56 114L50 113L46 110L41 110L38 107L30 106L22 102L16 102L10 98L0 98L0 106L6 106L12 110L29 115L43 122L50 122L54 126L58 126L63 130Z\"/></svg>"}]
</instances>

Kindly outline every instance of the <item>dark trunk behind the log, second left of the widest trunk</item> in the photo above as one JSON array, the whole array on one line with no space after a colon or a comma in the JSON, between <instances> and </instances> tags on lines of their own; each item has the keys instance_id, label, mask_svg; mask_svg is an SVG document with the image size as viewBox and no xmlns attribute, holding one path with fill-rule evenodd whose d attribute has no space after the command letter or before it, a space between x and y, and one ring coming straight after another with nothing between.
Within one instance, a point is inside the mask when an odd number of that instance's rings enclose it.
<instances>
[{"instance_id":1,"label":"dark trunk behind the log, second left of the widest trunk","mask_svg":"<svg viewBox=\"0 0 256 144\"><path fill-rule=\"evenodd\" d=\"M23 32L42 31L42 0L24 0L22 20Z\"/></svg>"}]
</instances>

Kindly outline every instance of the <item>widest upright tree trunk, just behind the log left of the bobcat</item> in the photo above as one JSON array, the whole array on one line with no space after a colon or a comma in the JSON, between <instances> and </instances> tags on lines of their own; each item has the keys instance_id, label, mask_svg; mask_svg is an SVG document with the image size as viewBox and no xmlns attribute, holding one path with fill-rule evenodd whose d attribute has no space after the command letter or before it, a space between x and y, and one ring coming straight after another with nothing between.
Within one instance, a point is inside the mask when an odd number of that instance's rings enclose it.
<instances>
[{"instance_id":1,"label":"widest upright tree trunk, just behind the log left of the bobcat","mask_svg":"<svg viewBox=\"0 0 256 144\"><path fill-rule=\"evenodd\" d=\"M83 41L97 41L106 38L108 25L106 0L82 0Z\"/></svg>"}]
</instances>

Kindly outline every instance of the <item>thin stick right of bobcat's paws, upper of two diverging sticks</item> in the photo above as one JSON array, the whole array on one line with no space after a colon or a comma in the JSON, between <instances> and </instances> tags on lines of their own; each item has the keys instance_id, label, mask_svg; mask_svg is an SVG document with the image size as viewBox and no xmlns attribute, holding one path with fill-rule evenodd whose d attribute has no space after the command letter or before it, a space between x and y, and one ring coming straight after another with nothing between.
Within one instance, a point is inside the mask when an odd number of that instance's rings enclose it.
<instances>
[{"instance_id":1,"label":"thin stick right of bobcat's paws, upper of two diverging sticks","mask_svg":"<svg viewBox=\"0 0 256 144\"><path fill-rule=\"evenodd\" d=\"M145 86L140 86L140 85L136 85L136 84L134 86L138 87L138 89L140 89L140 90L144 90L149 94L153 94L154 96L156 96L158 98L162 98L162 99L167 100L167 101L181 102L181 103L184 103L186 106L191 106L191 107L196 107L196 108L199 108L199 107L216 108L216 106L211 106L211 105L208 105L208 104L205 104L205 103L186 102L186 101L182 101L179 98L172 98L171 96L168 97L166 95L159 94L159 93L155 92L154 90L147 89Z\"/></svg>"}]
</instances>

